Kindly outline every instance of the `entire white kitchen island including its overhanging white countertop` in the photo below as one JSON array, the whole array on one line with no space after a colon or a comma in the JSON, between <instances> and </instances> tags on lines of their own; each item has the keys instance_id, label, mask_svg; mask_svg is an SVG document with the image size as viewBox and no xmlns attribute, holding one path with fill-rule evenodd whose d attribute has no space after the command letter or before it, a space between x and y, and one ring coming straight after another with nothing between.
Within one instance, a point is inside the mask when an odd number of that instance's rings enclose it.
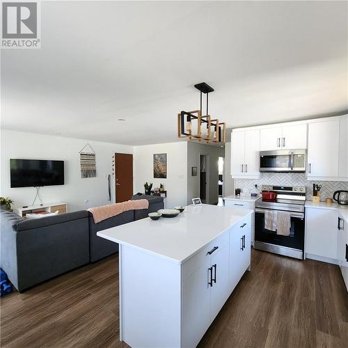
<instances>
[{"instance_id":1,"label":"entire white kitchen island including its overhanging white countertop","mask_svg":"<svg viewBox=\"0 0 348 348\"><path fill-rule=\"evenodd\" d=\"M120 340L196 347L250 267L252 213L190 205L97 232L120 244Z\"/></svg>"}]
</instances>

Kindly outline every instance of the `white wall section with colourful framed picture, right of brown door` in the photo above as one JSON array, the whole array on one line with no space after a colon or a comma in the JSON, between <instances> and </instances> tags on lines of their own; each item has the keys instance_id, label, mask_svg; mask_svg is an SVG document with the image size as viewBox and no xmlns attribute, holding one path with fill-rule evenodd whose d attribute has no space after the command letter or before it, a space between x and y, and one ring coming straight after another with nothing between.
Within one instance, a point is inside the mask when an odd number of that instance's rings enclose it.
<instances>
[{"instance_id":1,"label":"white wall section with colourful framed picture, right of brown door","mask_svg":"<svg viewBox=\"0 0 348 348\"><path fill-rule=\"evenodd\" d=\"M153 155L167 154L167 178L153 177ZM167 207L187 203L187 142L141 145L134 147L134 193L144 192L143 184L152 182L153 188L164 184Z\"/></svg>"}]
</instances>

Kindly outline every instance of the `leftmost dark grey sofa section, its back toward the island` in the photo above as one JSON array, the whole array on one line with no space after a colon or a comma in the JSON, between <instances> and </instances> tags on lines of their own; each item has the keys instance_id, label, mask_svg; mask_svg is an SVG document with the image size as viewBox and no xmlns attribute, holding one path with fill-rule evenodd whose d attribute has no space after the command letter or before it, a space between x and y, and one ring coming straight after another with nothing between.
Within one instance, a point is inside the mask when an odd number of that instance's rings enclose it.
<instances>
[{"instance_id":1,"label":"leftmost dark grey sofa section, its back toward the island","mask_svg":"<svg viewBox=\"0 0 348 348\"><path fill-rule=\"evenodd\" d=\"M22 292L89 262L88 212L24 219L1 211L1 268Z\"/></svg>"}]
</instances>

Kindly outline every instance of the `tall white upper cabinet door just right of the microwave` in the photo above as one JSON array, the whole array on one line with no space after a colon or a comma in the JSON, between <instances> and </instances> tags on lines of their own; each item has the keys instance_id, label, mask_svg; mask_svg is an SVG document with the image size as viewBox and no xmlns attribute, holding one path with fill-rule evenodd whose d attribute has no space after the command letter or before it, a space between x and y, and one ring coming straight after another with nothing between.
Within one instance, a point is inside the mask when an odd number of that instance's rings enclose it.
<instances>
[{"instance_id":1,"label":"tall white upper cabinet door just right of the microwave","mask_svg":"<svg viewBox=\"0 0 348 348\"><path fill-rule=\"evenodd\" d=\"M338 176L340 121L308 124L307 177Z\"/></svg>"}]
</instances>

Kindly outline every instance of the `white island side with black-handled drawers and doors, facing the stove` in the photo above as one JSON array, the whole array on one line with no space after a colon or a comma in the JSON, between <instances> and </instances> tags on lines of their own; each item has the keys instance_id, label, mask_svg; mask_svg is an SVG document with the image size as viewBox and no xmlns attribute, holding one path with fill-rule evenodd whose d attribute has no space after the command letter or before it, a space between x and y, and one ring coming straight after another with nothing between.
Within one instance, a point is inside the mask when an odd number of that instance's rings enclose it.
<instances>
[{"instance_id":1,"label":"white island side with black-handled drawers and doors, facing the stove","mask_svg":"<svg viewBox=\"0 0 348 348\"><path fill-rule=\"evenodd\" d=\"M250 235L248 215L182 265L182 347L198 345L250 266Z\"/></svg>"}]
</instances>

